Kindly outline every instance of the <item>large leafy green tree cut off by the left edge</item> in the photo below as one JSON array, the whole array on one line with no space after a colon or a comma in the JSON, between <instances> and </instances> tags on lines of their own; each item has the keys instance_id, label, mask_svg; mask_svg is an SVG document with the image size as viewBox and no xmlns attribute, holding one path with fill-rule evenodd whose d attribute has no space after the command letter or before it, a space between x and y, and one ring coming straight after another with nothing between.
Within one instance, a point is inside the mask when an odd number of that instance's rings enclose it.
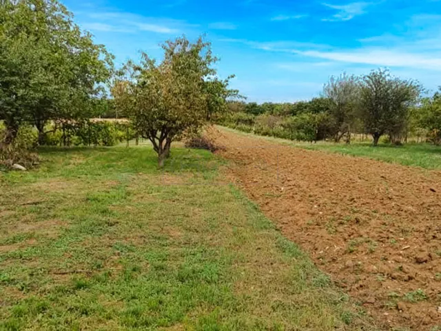
<instances>
[{"instance_id":1,"label":"large leafy green tree cut off by the left edge","mask_svg":"<svg viewBox=\"0 0 441 331\"><path fill-rule=\"evenodd\" d=\"M0 52L3 145L23 121L34 122L42 143L49 119L85 114L112 70L112 56L57 0L1 1Z\"/></svg>"}]
</instances>

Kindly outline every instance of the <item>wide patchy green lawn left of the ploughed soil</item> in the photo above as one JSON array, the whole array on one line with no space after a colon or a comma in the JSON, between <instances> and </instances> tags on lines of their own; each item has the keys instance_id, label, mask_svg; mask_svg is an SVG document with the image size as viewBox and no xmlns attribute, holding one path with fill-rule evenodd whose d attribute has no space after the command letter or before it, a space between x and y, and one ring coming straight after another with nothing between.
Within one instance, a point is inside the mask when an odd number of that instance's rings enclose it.
<instances>
[{"instance_id":1,"label":"wide patchy green lawn left of the ploughed soil","mask_svg":"<svg viewBox=\"0 0 441 331\"><path fill-rule=\"evenodd\" d=\"M0 330L373 330L209 152L41 155L0 173Z\"/></svg>"}]
</instances>

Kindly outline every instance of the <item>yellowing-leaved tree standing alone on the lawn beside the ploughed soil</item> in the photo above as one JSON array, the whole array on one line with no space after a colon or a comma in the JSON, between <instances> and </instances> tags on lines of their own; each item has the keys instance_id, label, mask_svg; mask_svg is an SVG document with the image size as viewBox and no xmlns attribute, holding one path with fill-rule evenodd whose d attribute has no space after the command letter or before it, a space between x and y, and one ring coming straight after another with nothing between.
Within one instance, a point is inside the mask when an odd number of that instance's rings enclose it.
<instances>
[{"instance_id":1,"label":"yellowing-leaved tree standing alone on the lawn beside the ploughed soil","mask_svg":"<svg viewBox=\"0 0 441 331\"><path fill-rule=\"evenodd\" d=\"M143 53L141 64L131 61L116 80L112 93L116 108L128 115L134 127L152 142L163 167L173 141L198 132L225 99L228 80L216 78L210 43L200 37L166 41L164 59L156 63Z\"/></svg>"}]
</instances>

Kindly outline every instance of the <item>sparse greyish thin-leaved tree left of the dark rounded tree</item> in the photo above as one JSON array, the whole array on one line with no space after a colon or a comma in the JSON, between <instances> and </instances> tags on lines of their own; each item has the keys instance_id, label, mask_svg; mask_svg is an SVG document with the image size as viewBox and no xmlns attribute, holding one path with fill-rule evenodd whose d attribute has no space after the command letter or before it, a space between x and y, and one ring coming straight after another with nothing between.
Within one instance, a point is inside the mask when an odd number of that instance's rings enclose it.
<instances>
[{"instance_id":1,"label":"sparse greyish thin-leaved tree left of the dark rounded tree","mask_svg":"<svg viewBox=\"0 0 441 331\"><path fill-rule=\"evenodd\" d=\"M351 128L358 109L358 92L358 78L345 73L340 77L331 77L323 88L322 97L329 100L329 114L334 117L336 142L345 136L347 143L351 141Z\"/></svg>"}]
</instances>

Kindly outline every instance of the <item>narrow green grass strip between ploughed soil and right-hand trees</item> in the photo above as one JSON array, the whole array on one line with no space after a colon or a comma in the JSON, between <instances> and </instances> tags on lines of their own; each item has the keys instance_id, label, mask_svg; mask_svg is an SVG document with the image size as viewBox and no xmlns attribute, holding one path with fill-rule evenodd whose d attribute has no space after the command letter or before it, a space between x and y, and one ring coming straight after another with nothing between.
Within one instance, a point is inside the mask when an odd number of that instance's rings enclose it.
<instances>
[{"instance_id":1,"label":"narrow green grass strip between ploughed soil and right-hand trees","mask_svg":"<svg viewBox=\"0 0 441 331\"><path fill-rule=\"evenodd\" d=\"M229 130L243 135L253 135L238 130L222 127L222 130ZM441 146L433 146L428 143L406 143L402 146L393 146L387 143L380 143L373 147L369 142L355 142L347 145L346 143L332 143L318 141L317 143L307 143L301 141L290 141L274 137L262 137L270 141L278 141L290 146L304 148L307 150L323 150L325 152L351 155L354 157L367 157L378 161L389 163L400 163L411 167L421 167L425 169L441 169Z\"/></svg>"}]
</instances>

